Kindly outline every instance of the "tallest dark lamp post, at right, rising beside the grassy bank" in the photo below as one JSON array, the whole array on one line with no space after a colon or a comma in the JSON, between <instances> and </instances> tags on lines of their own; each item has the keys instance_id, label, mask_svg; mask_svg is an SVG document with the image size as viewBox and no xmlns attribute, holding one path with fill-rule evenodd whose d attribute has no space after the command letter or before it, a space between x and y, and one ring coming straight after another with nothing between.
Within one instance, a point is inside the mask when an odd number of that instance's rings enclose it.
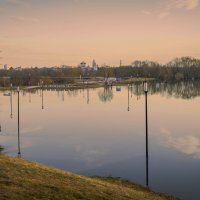
<instances>
[{"instance_id":1,"label":"tallest dark lamp post, at right, rising beside the grassy bank","mask_svg":"<svg viewBox=\"0 0 200 200\"><path fill-rule=\"evenodd\" d=\"M144 93L145 93L145 119L146 119L146 186L149 187L149 152L148 152L148 84L144 82Z\"/></svg>"}]
</instances>

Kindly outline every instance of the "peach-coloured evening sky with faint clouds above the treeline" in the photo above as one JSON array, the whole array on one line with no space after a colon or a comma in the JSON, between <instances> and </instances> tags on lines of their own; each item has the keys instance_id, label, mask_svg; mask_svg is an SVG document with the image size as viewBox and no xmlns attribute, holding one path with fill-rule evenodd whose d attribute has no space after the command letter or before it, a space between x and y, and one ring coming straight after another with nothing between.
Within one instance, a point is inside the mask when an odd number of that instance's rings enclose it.
<instances>
[{"instance_id":1,"label":"peach-coloured evening sky with faint clouds above the treeline","mask_svg":"<svg viewBox=\"0 0 200 200\"><path fill-rule=\"evenodd\" d=\"M200 0L0 0L0 67L200 58Z\"/></svg>"}]
</instances>

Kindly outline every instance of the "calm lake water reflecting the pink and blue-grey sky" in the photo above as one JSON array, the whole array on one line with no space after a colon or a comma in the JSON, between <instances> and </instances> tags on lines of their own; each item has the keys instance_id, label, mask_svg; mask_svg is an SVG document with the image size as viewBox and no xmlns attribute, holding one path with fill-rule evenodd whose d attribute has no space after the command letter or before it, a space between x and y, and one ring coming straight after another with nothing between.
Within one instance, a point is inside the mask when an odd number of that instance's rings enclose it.
<instances>
[{"instance_id":1,"label":"calm lake water reflecting the pink and blue-grey sky","mask_svg":"<svg viewBox=\"0 0 200 200\"><path fill-rule=\"evenodd\" d=\"M200 199L199 96L196 82L152 83L148 94L150 188L185 200ZM0 93L0 145L17 156L17 94L12 111L10 100ZM144 119L140 84L45 90L43 99L41 90L21 92L21 154L75 173L145 185Z\"/></svg>"}]
</instances>

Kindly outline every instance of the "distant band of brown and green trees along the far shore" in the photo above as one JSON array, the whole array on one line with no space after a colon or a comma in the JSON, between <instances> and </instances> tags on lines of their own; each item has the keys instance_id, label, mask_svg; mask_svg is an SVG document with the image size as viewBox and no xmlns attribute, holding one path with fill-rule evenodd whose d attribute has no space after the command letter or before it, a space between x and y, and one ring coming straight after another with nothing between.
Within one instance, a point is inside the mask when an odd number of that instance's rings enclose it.
<instances>
[{"instance_id":1,"label":"distant band of brown and green trees along the far shore","mask_svg":"<svg viewBox=\"0 0 200 200\"><path fill-rule=\"evenodd\" d=\"M0 70L0 85L8 82L13 85L36 85L41 80L45 84L73 83L73 77L145 77L160 81L200 80L200 59L191 57L176 58L162 65L153 61L134 61L130 66L100 67L98 71L81 68L25 68ZM4 78L3 78L4 77Z\"/></svg>"}]
</instances>

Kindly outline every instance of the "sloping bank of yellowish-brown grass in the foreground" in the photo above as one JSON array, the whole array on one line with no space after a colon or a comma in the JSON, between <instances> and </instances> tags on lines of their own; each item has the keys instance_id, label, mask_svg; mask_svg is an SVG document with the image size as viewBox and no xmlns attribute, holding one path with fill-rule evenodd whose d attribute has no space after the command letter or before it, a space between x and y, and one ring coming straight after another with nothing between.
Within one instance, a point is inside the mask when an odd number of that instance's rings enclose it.
<instances>
[{"instance_id":1,"label":"sloping bank of yellowish-brown grass in the foreground","mask_svg":"<svg viewBox=\"0 0 200 200\"><path fill-rule=\"evenodd\" d=\"M114 178L84 177L0 154L0 199L174 200Z\"/></svg>"}]
</instances>

